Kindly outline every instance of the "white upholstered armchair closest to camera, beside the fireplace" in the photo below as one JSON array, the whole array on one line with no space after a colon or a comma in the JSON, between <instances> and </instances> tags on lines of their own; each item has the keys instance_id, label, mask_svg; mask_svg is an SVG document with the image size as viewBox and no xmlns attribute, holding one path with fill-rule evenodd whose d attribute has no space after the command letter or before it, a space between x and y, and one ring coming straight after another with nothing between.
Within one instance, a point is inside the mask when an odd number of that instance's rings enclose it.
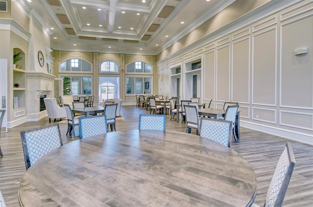
<instances>
[{"instance_id":1,"label":"white upholstered armchair closest to camera, beside the fireplace","mask_svg":"<svg viewBox=\"0 0 313 207\"><path fill-rule=\"evenodd\" d=\"M65 108L60 107L57 104L57 101L55 98L44 98L45 102L45 109L48 114L49 122L51 122L51 119L54 119L54 122L56 119L62 120L62 118L67 117L67 112L65 111Z\"/></svg>"}]
</instances>

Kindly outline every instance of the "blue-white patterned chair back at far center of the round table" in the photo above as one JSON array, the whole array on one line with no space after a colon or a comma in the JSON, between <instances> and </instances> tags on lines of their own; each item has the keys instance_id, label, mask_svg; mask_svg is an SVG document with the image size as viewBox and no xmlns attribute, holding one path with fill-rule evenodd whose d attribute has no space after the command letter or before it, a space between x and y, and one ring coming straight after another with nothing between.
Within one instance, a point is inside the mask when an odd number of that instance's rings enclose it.
<instances>
[{"instance_id":1,"label":"blue-white patterned chair back at far center of the round table","mask_svg":"<svg viewBox=\"0 0 313 207\"><path fill-rule=\"evenodd\" d=\"M162 114L139 114L139 130L165 130L166 116Z\"/></svg>"}]
</instances>

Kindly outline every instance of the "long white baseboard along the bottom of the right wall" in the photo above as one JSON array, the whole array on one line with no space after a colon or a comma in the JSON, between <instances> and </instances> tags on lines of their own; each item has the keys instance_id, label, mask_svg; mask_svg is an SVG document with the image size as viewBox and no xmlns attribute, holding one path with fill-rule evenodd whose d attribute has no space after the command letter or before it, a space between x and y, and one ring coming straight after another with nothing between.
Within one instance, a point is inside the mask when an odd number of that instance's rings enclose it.
<instances>
[{"instance_id":1,"label":"long white baseboard along the bottom of the right wall","mask_svg":"<svg viewBox=\"0 0 313 207\"><path fill-rule=\"evenodd\" d=\"M240 120L240 126L300 143L313 145L313 135Z\"/></svg>"}]
</instances>

